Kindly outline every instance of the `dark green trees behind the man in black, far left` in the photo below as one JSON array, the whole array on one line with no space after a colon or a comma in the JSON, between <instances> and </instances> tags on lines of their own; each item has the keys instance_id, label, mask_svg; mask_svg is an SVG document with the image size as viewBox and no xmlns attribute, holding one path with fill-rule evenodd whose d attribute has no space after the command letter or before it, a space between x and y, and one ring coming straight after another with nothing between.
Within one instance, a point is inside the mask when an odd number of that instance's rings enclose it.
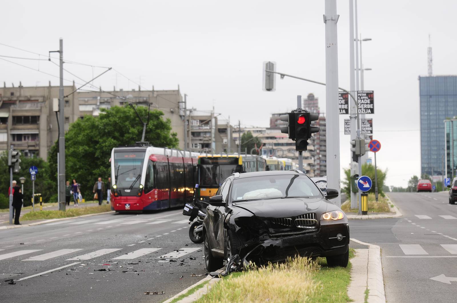
<instances>
[{"instance_id":1,"label":"dark green trees behind the man in black, far left","mask_svg":"<svg viewBox=\"0 0 457 303\"><path fill-rule=\"evenodd\" d=\"M24 206L32 205L32 181L30 180L29 168L36 166L38 168L37 179L35 180L35 193L41 193L43 202L56 202L57 199L52 200L51 197L57 193L56 186L49 178L49 165L42 158L27 158L24 156L21 159L20 172L13 172L13 180L16 180L17 185L20 187L21 182L19 178L24 177ZM10 171L8 168L8 152L4 152L0 156L0 208L9 207L8 188L10 187ZM38 203L39 203L38 199ZM37 202L37 199L35 199Z\"/></svg>"}]
</instances>

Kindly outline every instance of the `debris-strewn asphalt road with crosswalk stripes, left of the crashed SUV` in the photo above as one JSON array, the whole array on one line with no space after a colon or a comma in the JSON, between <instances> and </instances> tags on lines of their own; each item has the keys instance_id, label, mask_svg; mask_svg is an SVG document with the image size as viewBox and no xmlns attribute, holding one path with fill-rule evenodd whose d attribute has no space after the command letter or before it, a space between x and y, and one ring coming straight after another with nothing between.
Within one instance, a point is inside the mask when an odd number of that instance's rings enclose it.
<instances>
[{"instance_id":1,"label":"debris-strewn asphalt road with crosswalk stripes, left of the crashed SUV","mask_svg":"<svg viewBox=\"0 0 457 303\"><path fill-rule=\"evenodd\" d=\"M0 230L0 302L162 302L205 277L187 220L173 209Z\"/></svg>"}]
</instances>

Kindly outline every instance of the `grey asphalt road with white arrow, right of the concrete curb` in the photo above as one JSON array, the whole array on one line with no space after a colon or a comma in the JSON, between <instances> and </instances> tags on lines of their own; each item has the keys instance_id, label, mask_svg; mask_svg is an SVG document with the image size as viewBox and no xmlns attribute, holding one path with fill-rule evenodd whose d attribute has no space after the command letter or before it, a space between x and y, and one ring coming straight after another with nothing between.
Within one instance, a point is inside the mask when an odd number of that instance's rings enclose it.
<instances>
[{"instance_id":1,"label":"grey asphalt road with white arrow, right of the concrete curb","mask_svg":"<svg viewBox=\"0 0 457 303\"><path fill-rule=\"evenodd\" d=\"M402 218L349 223L351 238L381 247L387 301L457 302L457 205L447 193L389 196Z\"/></svg>"}]
</instances>

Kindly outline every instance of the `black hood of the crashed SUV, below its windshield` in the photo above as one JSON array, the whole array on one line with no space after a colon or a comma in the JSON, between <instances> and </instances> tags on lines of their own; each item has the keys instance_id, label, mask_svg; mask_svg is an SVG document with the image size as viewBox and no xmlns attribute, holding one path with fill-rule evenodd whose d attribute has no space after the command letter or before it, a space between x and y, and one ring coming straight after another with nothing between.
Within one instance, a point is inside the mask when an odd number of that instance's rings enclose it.
<instances>
[{"instance_id":1,"label":"black hood of the crashed SUV, below its windshield","mask_svg":"<svg viewBox=\"0 0 457 303\"><path fill-rule=\"evenodd\" d=\"M295 217L309 212L324 213L330 203L323 198L286 198L233 202L234 208L246 209L258 217Z\"/></svg>"}]
</instances>

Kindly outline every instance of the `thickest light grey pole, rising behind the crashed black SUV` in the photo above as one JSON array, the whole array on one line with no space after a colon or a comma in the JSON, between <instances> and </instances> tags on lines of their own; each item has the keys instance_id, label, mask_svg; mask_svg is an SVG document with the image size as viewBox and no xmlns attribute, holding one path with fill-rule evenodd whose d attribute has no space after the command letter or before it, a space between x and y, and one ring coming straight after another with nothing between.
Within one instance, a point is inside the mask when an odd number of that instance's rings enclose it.
<instances>
[{"instance_id":1,"label":"thickest light grey pole, rising behind the crashed black SUV","mask_svg":"<svg viewBox=\"0 0 457 303\"><path fill-rule=\"evenodd\" d=\"M340 127L338 110L338 37L336 0L325 0L325 104L327 113L327 186L340 193ZM341 206L341 195L332 199Z\"/></svg>"}]
</instances>

